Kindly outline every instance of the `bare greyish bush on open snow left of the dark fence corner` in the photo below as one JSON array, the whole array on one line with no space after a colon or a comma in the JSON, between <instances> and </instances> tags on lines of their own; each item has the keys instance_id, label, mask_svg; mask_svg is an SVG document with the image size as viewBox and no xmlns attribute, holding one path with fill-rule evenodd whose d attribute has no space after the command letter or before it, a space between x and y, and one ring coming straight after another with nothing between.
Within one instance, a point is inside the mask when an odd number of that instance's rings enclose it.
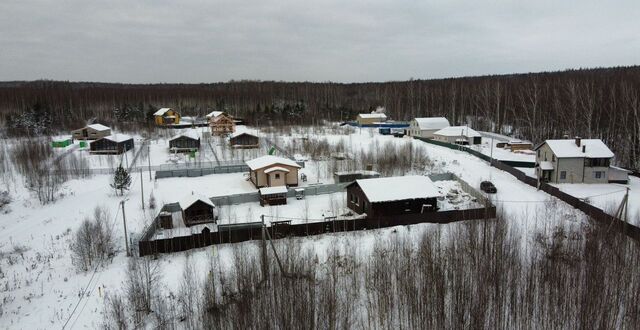
<instances>
[{"instance_id":1,"label":"bare greyish bush on open snow left of the dark fence corner","mask_svg":"<svg viewBox=\"0 0 640 330\"><path fill-rule=\"evenodd\" d=\"M96 207L93 219L85 219L71 240L71 256L76 268L88 271L115 253L115 242L108 224L109 214Z\"/></svg>"}]
</instances>

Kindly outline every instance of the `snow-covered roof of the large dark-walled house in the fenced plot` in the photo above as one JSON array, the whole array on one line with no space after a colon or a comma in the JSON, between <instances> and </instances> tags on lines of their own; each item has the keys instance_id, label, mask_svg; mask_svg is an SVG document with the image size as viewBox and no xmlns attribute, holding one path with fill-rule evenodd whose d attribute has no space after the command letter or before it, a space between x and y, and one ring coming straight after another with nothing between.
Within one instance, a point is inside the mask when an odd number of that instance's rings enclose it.
<instances>
[{"instance_id":1,"label":"snow-covered roof of the large dark-walled house in the fenced plot","mask_svg":"<svg viewBox=\"0 0 640 330\"><path fill-rule=\"evenodd\" d=\"M362 179L356 183L371 203L440 196L433 181L421 175Z\"/></svg>"}]
</instances>

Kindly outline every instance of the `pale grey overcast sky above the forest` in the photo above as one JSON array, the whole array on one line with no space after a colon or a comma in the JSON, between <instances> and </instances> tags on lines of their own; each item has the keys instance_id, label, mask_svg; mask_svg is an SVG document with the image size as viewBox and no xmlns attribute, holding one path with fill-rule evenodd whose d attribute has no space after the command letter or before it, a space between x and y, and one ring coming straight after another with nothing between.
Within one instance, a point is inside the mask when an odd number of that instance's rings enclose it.
<instances>
[{"instance_id":1,"label":"pale grey overcast sky above the forest","mask_svg":"<svg viewBox=\"0 0 640 330\"><path fill-rule=\"evenodd\" d=\"M633 64L639 0L0 0L0 80L361 82Z\"/></svg>"}]
</instances>

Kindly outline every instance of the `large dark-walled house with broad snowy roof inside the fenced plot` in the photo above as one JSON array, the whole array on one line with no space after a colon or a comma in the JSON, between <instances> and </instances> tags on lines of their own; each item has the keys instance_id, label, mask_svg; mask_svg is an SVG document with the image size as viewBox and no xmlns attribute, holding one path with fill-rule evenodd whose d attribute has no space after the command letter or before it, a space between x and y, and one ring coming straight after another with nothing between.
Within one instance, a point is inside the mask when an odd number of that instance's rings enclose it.
<instances>
[{"instance_id":1,"label":"large dark-walled house with broad snowy roof inside the fenced plot","mask_svg":"<svg viewBox=\"0 0 640 330\"><path fill-rule=\"evenodd\" d=\"M346 187L347 207L370 217L438 210L440 193L431 179L412 175L356 180Z\"/></svg>"}]
</instances>

